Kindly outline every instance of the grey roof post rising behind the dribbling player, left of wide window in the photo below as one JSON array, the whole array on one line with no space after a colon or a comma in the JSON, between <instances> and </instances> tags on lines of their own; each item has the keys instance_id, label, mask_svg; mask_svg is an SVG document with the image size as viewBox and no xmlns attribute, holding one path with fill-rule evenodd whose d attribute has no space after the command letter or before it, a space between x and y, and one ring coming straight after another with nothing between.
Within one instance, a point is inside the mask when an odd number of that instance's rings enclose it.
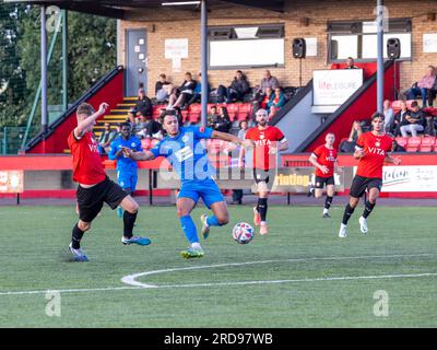
<instances>
[{"instance_id":1,"label":"grey roof post rising behind the dribbling player, left of wide window","mask_svg":"<svg viewBox=\"0 0 437 350\"><path fill-rule=\"evenodd\" d=\"M200 32L201 32L201 126L206 127L208 115L208 3L201 1Z\"/></svg>"}]
</instances>

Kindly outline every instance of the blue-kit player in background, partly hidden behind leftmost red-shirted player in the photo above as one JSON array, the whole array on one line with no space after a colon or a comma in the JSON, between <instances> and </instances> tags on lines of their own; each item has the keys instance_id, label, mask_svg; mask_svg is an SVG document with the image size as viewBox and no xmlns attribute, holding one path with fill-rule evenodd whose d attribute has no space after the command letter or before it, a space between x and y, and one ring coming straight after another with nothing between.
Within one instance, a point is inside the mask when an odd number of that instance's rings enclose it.
<instances>
[{"instance_id":1,"label":"blue-kit player in background, partly hidden behind leftmost red-shirted player","mask_svg":"<svg viewBox=\"0 0 437 350\"><path fill-rule=\"evenodd\" d=\"M129 122L121 124L121 137L110 143L108 158L113 161L117 160L117 179L120 187L129 195L133 195L138 183L138 164L123 154L125 148L135 152L143 150L140 139L131 136L131 126ZM118 217L122 218L121 207L118 207L117 212Z\"/></svg>"}]
</instances>

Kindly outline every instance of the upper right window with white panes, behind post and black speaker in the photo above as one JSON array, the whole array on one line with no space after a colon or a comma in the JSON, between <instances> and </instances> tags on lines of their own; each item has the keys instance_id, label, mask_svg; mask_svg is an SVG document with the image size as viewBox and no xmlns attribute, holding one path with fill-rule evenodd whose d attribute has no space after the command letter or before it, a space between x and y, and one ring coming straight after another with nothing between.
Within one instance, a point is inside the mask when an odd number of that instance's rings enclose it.
<instances>
[{"instance_id":1,"label":"upper right window with white panes, behind post and black speaker","mask_svg":"<svg viewBox=\"0 0 437 350\"><path fill-rule=\"evenodd\" d=\"M411 59L411 20L389 20L388 32L383 34L383 56L387 57L387 39L399 38L401 59ZM359 60L377 58L377 26L374 21L331 22L328 24L329 60L344 60L353 57Z\"/></svg>"}]
</instances>

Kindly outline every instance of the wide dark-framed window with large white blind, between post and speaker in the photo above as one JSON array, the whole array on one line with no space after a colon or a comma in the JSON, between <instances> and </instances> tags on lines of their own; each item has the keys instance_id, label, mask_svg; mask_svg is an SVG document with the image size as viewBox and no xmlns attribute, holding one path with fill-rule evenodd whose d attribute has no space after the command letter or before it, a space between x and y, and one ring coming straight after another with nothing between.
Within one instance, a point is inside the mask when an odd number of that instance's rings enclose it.
<instances>
[{"instance_id":1,"label":"wide dark-framed window with large white blind, between post and speaker","mask_svg":"<svg viewBox=\"0 0 437 350\"><path fill-rule=\"evenodd\" d=\"M210 68L256 68L284 65L284 25L210 27Z\"/></svg>"}]
</instances>

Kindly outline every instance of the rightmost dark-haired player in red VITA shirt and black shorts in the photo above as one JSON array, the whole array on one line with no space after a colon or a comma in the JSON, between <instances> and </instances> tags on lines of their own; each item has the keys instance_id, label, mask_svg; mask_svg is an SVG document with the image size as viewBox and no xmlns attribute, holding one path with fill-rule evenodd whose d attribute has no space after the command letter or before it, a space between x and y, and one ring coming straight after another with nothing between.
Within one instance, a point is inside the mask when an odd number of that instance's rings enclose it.
<instances>
[{"instance_id":1,"label":"rightmost dark-haired player in red VITA shirt and black shorts","mask_svg":"<svg viewBox=\"0 0 437 350\"><path fill-rule=\"evenodd\" d=\"M351 198L344 210L343 221L340 226L339 237L347 235L347 221L358 205L359 198L368 191L368 199L359 218L359 228L367 233L367 217L376 205L376 199L382 187L383 163L401 164L399 158L391 158L387 152L391 151L393 139L383 132L383 114L375 113L371 116L373 130L362 133L356 142L354 158L359 160L358 168L351 185Z\"/></svg>"}]
</instances>

